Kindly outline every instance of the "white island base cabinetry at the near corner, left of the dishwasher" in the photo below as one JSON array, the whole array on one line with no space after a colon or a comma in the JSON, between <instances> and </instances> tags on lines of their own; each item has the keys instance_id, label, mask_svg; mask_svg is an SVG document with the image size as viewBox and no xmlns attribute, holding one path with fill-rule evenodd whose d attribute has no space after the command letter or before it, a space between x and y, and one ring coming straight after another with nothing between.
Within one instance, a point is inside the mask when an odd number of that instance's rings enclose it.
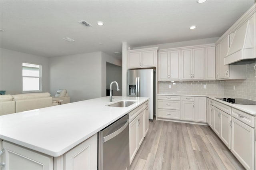
<instances>
[{"instance_id":1,"label":"white island base cabinetry at the near corner, left of the dishwasher","mask_svg":"<svg viewBox=\"0 0 256 170\"><path fill-rule=\"evenodd\" d=\"M98 134L94 134L65 154L52 157L7 141L2 141L4 170L91 170L97 169Z\"/></svg>"}]
</instances>

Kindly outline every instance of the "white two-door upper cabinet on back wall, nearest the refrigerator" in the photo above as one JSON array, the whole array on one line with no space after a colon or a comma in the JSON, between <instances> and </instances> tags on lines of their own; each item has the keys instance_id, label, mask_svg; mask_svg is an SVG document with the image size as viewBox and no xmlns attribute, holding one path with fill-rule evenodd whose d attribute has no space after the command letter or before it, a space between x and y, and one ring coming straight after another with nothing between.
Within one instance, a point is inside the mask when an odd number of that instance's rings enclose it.
<instances>
[{"instance_id":1,"label":"white two-door upper cabinet on back wall, nearest the refrigerator","mask_svg":"<svg viewBox=\"0 0 256 170\"><path fill-rule=\"evenodd\" d=\"M158 81L180 79L180 51L158 53Z\"/></svg>"}]
</instances>

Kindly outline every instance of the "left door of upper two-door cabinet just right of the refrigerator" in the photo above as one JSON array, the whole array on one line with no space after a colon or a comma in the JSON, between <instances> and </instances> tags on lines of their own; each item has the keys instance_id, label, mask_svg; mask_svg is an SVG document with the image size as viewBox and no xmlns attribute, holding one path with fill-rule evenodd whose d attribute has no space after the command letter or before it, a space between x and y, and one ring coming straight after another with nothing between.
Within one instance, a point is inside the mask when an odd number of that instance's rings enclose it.
<instances>
[{"instance_id":1,"label":"left door of upper two-door cabinet just right of the refrigerator","mask_svg":"<svg viewBox=\"0 0 256 170\"><path fill-rule=\"evenodd\" d=\"M169 80L169 52L158 53L158 81Z\"/></svg>"}]
</instances>

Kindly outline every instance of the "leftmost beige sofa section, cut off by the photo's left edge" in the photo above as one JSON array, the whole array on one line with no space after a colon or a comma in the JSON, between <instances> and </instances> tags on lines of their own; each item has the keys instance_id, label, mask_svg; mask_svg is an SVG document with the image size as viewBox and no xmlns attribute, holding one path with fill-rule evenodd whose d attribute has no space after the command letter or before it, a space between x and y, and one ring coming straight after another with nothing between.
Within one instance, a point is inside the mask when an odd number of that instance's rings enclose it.
<instances>
[{"instance_id":1,"label":"leftmost beige sofa section, cut off by the photo's left edge","mask_svg":"<svg viewBox=\"0 0 256 170\"><path fill-rule=\"evenodd\" d=\"M15 113L15 101L12 95L0 95L0 116Z\"/></svg>"}]
</instances>

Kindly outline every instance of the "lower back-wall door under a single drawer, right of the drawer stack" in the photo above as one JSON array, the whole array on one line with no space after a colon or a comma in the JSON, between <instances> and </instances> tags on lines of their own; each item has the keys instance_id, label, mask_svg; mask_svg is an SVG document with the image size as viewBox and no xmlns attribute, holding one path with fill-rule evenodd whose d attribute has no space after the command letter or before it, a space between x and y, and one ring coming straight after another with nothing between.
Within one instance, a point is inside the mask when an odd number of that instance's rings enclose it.
<instances>
[{"instance_id":1,"label":"lower back-wall door under a single drawer, right of the drawer stack","mask_svg":"<svg viewBox=\"0 0 256 170\"><path fill-rule=\"evenodd\" d=\"M182 101L182 120L194 121L194 102Z\"/></svg>"}]
</instances>

